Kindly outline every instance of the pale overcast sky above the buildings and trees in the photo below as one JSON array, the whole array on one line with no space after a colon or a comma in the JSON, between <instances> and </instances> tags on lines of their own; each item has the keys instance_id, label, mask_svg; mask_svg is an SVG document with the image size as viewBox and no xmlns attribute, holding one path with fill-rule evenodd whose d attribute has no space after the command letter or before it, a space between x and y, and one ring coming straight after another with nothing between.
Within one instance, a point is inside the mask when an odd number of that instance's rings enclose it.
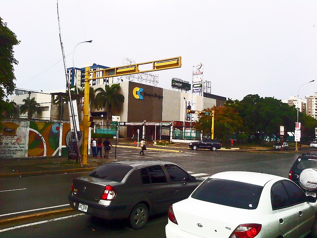
<instances>
[{"instance_id":1,"label":"pale overcast sky above the buildings and trees","mask_svg":"<svg viewBox=\"0 0 317 238\"><path fill-rule=\"evenodd\" d=\"M56 0L1 0L0 17L21 41L14 48L17 88L66 88L56 6ZM315 0L59 0L67 67L75 45L86 40L93 42L76 48L75 67L181 56L181 68L154 72L159 87L171 89L172 77L191 82L192 66L201 62L211 93L239 100L288 99L313 79L299 95L317 92L316 10Z\"/></svg>"}]
</instances>

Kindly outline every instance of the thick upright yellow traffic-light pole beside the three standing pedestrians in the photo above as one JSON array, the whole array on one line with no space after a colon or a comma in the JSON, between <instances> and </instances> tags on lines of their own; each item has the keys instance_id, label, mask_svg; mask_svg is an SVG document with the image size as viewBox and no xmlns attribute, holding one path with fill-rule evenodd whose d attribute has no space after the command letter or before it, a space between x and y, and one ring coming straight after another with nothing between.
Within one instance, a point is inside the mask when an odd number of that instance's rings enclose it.
<instances>
[{"instance_id":1,"label":"thick upright yellow traffic-light pole beside the three standing pedestrians","mask_svg":"<svg viewBox=\"0 0 317 238\"><path fill-rule=\"evenodd\" d=\"M84 96L84 118L83 118L83 141L82 141L82 163L87 164L88 153L88 122L89 122L89 77L90 67L85 68L85 96Z\"/></svg>"}]
</instances>

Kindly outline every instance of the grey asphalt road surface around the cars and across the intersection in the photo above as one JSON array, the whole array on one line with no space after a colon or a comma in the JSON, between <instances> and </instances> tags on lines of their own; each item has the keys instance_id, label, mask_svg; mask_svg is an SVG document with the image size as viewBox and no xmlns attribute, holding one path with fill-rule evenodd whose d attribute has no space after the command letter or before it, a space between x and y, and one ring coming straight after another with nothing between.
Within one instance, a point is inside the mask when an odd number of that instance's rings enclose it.
<instances>
[{"instance_id":1,"label":"grey asphalt road surface around the cars and across the intersection","mask_svg":"<svg viewBox=\"0 0 317 238\"><path fill-rule=\"evenodd\" d=\"M145 159L171 161L179 164L192 175L206 177L220 171L246 170L288 176L291 164L298 154L251 153L233 151L184 150L183 153L150 151L144 156L138 150L120 148L119 160ZM0 215L29 209L67 204L67 195L73 178L87 173L36 176L28 178L1 179L2 208ZM26 189L23 189L26 188ZM135 231L125 221L106 222L92 219L76 212L20 221L0 226L1 237L165 237L166 214L152 217L146 228ZM1 218L1 217L0 217ZM48 219L52 220L48 222ZM44 223L39 223L43 222ZM34 223L35 222L35 223ZM37 222L37 223L36 223ZM25 227L17 227L23 225ZM7 230L11 229L11 230ZM23 234L23 236L21 235ZM71 235L70 235L71 234Z\"/></svg>"}]
</instances>

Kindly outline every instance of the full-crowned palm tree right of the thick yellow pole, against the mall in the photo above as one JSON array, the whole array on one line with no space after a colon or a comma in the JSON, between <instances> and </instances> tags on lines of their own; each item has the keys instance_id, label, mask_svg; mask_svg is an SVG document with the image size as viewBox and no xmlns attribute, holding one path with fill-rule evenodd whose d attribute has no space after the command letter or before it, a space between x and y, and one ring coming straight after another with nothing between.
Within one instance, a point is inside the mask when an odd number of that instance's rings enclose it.
<instances>
[{"instance_id":1,"label":"full-crowned palm tree right of the thick yellow pole, against the mall","mask_svg":"<svg viewBox=\"0 0 317 238\"><path fill-rule=\"evenodd\" d=\"M107 128L109 128L109 116L112 115L112 110L119 111L122 109L122 105L124 102L124 96L119 93L120 84L112 84L109 86L108 84L105 85L105 89L97 88L95 89L95 101L94 105L97 110L104 109L107 107Z\"/></svg>"}]
</instances>

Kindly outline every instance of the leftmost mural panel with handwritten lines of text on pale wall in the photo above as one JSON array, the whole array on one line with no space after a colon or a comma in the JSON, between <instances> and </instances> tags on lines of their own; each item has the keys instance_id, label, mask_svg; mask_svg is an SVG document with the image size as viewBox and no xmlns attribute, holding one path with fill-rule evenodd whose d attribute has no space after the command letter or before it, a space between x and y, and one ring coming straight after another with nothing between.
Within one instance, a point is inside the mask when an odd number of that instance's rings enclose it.
<instances>
[{"instance_id":1,"label":"leftmost mural panel with handwritten lines of text on pale wall","mask_svg":"<svg viewBox=\"0 0 317 238\"><path fill-rule=\"evenodd\" d=\"M2 126L0 158L25 157L27 122L3 122Z\"/></svg>"}]
</instances>

